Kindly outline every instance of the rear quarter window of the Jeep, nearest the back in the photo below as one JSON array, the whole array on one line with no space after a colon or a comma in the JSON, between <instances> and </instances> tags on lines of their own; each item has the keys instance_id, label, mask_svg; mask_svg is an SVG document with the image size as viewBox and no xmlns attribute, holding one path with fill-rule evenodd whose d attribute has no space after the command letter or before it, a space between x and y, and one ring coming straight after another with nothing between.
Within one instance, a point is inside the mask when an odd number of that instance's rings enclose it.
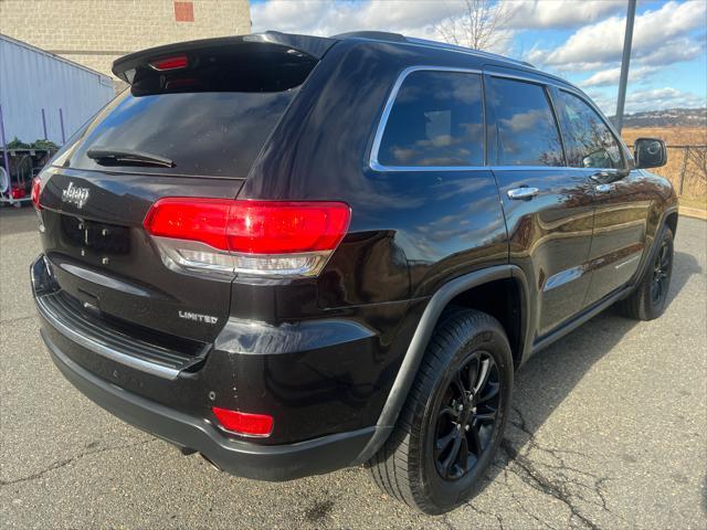
<instances>
[{"instance_id":1,"label":"rear quarter window of the Jeep, nearest the back","mask_svg":"<svg viewBox=\"0 0 707 530\"><path fill-rule=\"evenodd\" d=\"M383 166L483 166L477 74L413 72L402 83L378 150Z\"/></svg>"}]
</instances>

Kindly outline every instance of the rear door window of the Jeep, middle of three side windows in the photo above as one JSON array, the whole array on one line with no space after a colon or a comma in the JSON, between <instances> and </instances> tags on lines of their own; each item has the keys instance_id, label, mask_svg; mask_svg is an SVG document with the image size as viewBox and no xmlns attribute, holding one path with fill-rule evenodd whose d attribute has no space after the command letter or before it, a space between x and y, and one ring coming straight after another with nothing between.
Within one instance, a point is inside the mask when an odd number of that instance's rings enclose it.
<instances>
[{"instance_id":1,"label":"rear door window of the Jeep, middle of three side windows","mask_svg":"<svg viewBox=\"0 0 707 530\"><path fill-rule=\"evenodd\" d=\"M498 165L563 166L562 144L545 88L499 77L492 77L490 88Z\"/></svg>"}]
</instances>

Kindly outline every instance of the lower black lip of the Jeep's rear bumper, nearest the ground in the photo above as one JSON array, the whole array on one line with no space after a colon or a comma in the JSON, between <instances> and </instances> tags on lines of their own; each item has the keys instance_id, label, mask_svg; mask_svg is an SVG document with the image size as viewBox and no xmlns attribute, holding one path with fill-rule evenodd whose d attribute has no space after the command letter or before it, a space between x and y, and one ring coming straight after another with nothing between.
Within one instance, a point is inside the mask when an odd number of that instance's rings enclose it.
<instances>
[{"instance_id":1,"label":"lower black lip of the Jeep's rear bumper, nearest the ground","mask_svg":"<svg viewBox=\"0 0 707 530\"><path fill-rule=\"evenodd\" d=\"M258 480L289 480L350 465L374 427L288 445L255 445L225 437L208 420L193 417L127 392L78 365L42 330L54 364L93 402L120 420L172 444L197 451L219 468Z\"/></svg>"}]
</instances>

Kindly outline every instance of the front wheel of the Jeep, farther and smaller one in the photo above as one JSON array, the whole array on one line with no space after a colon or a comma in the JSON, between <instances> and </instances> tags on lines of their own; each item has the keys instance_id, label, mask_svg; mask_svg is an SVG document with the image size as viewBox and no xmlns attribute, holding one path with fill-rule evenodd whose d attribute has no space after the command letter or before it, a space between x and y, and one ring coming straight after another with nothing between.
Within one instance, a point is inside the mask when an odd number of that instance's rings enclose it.
<instances>
[{"instance_id":1,"label":"front wheel of the Jeep, farther and smaller one","mask_svg":"<svg viewBox=\"0 0 707 530\"><path fill-rule=\"evenodd\" d=\"M636 288L618 304L623 315L636 320L653 320L663 315L673 275L673 232L665 226Z\"/></svg>"}]
</instances>

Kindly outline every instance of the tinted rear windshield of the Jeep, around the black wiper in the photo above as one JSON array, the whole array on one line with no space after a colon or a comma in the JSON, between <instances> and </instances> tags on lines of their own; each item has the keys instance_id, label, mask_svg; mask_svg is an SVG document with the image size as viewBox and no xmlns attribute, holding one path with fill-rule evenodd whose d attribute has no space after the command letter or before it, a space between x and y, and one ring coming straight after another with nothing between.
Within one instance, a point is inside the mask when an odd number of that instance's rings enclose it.
<instances>
[{"instance_id":1,"label":"tinted rear windshield of the Jeep, around the black wiper","mask_svg":"<svg viewBox=\"0 0 707 530\"><path fill-rule=\"evenodd\" d=\"M65 167L139 173L245 178L297 88L283 92L182 92L118 96L62 160ZM89 151L139 151L171 167L106 167ZM139 166L139 167L135 167Z\"/></svg>"}]
</instances>

